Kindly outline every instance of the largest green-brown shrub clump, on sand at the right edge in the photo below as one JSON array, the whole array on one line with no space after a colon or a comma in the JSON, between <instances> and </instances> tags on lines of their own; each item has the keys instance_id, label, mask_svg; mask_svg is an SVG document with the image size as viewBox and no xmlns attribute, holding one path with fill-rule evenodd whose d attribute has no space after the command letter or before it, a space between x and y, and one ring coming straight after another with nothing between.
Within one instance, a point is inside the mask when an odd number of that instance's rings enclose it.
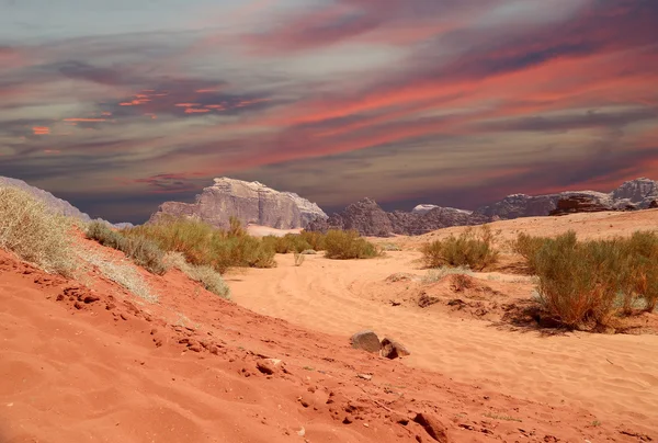
<instances>
[{"instance_id":1,"label":"largest green-brown shrub clump, on sand at the right edge","mask_svg":"<svg viewBox=\"0 0 658 443\"><path fill-rule=\"evenodd\" d=\"M538 279L544 309L563 325L608 325L616 314L647 311L658 300L658 235L578 241L519 235L514 250Z\"/></svg>"}]
</instances>

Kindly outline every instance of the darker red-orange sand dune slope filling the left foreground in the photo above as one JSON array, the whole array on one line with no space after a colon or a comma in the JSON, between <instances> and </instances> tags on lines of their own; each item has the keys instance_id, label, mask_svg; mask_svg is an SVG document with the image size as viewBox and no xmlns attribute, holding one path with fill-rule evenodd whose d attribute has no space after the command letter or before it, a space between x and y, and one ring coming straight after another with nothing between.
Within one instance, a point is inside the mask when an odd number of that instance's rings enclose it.
<instances>
[{"instance_id":1,"label":"darker red-orange sand dune slope filling the left foreground","mask_svg":"<svg viewBox=\"0 0 658 443\"><path fill-rule=\"evenodd\" d=\"M82 285L0 251L1 442L658 438L655 421L599 423L583 409L518 399L504 386L495 391L352 350L353 331L331 336L254 314L178 271L143 274L159 303L95 272ZM415 422L418 413L430 424ZM436 433L442 427L447 440Z\"/></svg>"}]
</instances>

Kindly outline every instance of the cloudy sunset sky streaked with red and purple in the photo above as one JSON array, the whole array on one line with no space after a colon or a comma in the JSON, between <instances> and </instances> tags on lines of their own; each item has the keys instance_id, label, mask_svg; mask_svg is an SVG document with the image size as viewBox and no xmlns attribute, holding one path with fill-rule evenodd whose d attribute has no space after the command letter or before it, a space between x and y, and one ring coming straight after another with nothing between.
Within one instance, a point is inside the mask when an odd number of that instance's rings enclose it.
<instances>
[{"instance_id":1,"label":"cloudy sunset sky streaked with red and purple","mask_svg":"<svg viewBox=\"0 0 658 443\"><path fill-rule=\"evenodd\" d=\"M0 0L0 175L140 223L658 179L656 0Z\"/></svg>"}]
</instances>

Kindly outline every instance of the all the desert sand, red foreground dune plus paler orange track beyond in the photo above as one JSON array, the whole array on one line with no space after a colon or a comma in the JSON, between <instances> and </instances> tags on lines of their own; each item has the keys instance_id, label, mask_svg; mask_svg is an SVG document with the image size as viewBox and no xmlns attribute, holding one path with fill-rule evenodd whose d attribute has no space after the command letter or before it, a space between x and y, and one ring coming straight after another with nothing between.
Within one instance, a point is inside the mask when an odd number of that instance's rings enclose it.
<instances>
[{"instance_id":1,"label":"all the desert sand, red foreground dune plus paler orange track beyond","mask_svg":"<svg viewBox=\"0 0 658 443\"><path fill-rule=\"evenodd\" d=\"M494 227L502 238L598 236L656 222L649 211ZM297 268L277 255L275 269L227 275L235 303L178 271L138 270L154 304L95 270L67 280L0 252L0 441L432 442L436 429L451 442L658 439L657 336L546 336L495 311L420 308L408 298L415 291L450 288L413 277L427 274L413 248L443 235L377 239L404 250L373 260L308 255ZM501 304L532 291L506 270L473 279ZM351 349L361 329L411 355ZM418 413L440 424L423 427Z\"/></svg>"}]
</instances>

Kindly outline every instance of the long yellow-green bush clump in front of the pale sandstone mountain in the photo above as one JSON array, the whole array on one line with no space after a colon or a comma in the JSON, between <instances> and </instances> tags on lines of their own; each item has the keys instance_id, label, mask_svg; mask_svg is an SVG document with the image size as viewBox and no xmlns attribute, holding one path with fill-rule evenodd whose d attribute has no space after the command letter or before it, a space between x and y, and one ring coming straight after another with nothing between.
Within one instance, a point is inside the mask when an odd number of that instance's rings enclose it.
<instances>
[{"instance_id":1,"label":"long yellow-green bush clump in front of the pale sandstone mountain","mask_svg":"<svg viewBox=\"0 0 658 443\"><path fill-rule=\"evenodd\" d=\"M228 230L185 218L162 218L122 231L126 237L143 237L164 251L181 252L195 265L208 265L219 273L229 268L273 268L275 250L271 243L249 236L236 218Z\"/></svg>"}]
</instances>

